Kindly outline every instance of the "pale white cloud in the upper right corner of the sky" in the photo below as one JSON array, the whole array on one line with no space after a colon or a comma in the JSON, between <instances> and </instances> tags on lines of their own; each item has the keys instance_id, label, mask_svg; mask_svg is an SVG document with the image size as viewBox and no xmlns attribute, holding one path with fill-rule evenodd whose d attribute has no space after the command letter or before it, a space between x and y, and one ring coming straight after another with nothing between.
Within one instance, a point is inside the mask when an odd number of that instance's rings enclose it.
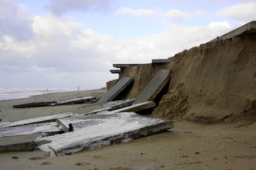
<instances>
[{"instance_id":1,"label":"pale white cloud in the upper right corner of the sky","mask_svg":"<svg viewBox=\"0 0 256 170\"><path fill-rule=\"evenodd\" d=\"M226 18L249 22L250 20L255 20L256 2L237 4L221 9L217 13Z\"/></svg>"}]
</instances>

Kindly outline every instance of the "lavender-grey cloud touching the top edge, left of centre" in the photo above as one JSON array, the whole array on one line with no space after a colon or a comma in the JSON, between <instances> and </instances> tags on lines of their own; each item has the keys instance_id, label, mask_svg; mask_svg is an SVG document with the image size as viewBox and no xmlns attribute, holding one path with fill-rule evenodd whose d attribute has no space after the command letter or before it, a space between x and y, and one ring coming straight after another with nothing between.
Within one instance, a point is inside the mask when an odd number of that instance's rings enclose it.
<instances>
[{"instance_id":1,"label":"lavender-grey cloud touching the top edge, left of centre","mask_svg":"<svg viewBox=\"0 0 256 170\"><path fill-rule=\"evenodd\" d=\"M46 6L47 11L56 16L72 11L107 13L115 9L113 0L52 0L49 2L50 5Z\"/></svg>"}]
</instances>

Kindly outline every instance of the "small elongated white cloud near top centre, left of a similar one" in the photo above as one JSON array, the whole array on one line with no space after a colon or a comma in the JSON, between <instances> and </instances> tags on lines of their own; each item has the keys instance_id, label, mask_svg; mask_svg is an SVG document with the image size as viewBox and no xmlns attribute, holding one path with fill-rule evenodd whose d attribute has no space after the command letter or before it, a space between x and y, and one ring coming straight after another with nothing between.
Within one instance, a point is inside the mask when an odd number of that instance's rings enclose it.
<instances>
[{"instance_id":1,"label":"small elongated white cloud near top centre, left of a similar one","mask_svg":"<svg viewBox=\"0 0 256 170\"><path fill-rule=\"evenodd\" d=\"M156 11L152 10L152 9L131 9L131 8L126 8L126 7L121 7L119 9L117 9L117 13L120 14L132 14L135 16L153 16Z\"/></svg>"}]
</instances>

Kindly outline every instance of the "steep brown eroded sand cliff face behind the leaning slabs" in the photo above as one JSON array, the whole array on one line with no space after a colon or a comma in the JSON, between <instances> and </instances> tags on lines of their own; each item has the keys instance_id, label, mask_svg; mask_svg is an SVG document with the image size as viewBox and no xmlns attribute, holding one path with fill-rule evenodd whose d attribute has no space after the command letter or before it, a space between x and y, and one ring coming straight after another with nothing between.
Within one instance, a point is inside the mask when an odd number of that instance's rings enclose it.
<instances>
[{"instance_id":1,"label":"steep brown eroded sand cliff face behind the leaning slabs","mask_svg":"<svg viewBox=\"0 0 256 170\"><path fill-rule=\"evenodd\" d=\"M174 63L121 70L134 79L122 99L135 99L160 69L171 68L169 89L152 117L229 122L256 99L256 35L201 44L176 54Z\"/></svg>"}]
</instances>

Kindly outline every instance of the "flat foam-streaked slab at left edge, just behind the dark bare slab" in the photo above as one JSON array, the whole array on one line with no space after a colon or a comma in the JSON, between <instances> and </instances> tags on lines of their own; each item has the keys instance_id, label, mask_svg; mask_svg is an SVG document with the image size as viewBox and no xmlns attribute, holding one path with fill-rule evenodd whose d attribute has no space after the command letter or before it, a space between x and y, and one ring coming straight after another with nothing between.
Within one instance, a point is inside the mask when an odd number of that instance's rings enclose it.
<instances>
[{"instance_id":1,"label":"flat foam-streaked slab at left edge, just behind the dark bare slab","mask_svg":"<svg viewBox=\"0 0 256 170\"><path fill-rule=\"evenodd\" d=\"M56 126L56 122L0 128L0 138L4 136L31 135L35 133L57 135L62 133L62 131Z\"/></svg>"}]
</instances>

